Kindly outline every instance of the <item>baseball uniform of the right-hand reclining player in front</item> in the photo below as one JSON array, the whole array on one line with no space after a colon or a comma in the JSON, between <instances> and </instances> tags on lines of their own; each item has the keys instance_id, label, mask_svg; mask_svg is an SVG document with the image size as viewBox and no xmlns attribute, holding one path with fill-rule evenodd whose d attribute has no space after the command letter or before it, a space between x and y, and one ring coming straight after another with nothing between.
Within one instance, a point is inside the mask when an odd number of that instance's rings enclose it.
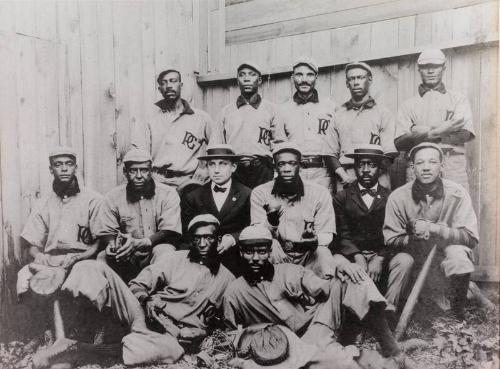
<instances>
[{"instance_id":1,"label":"baseball uniform of the right-hand reclining player in front","mask_svg":"<svg viewBox=\"0 0 500 369\"><path fill-rule=\"evenodd\" d=\"M259 280L239 277L228 286L223 308L230 328L276 323L302 335L318 323L338 332L344 308L363 319L370 304L385 303L370 280L360 284L343 283L337 278L325 280L293 264L275 264L271 268ZM318 337L318 342L321 338L326 337Z\"/></svg>"}]
</instances>

